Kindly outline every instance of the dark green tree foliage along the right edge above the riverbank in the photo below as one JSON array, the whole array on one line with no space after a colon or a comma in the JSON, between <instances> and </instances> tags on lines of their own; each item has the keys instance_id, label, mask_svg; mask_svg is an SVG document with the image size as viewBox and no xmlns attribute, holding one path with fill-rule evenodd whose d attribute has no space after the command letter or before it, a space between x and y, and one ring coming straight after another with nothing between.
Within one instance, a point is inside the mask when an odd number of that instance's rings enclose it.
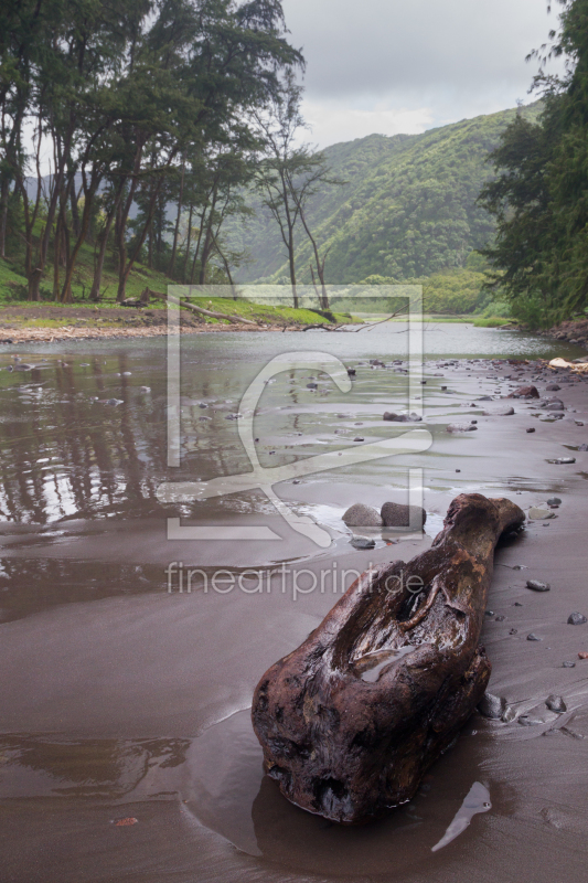
<instances>
[{"instance_id":1,"label":"dark green tree foliage along the right edge above the riverbank","mask_svg":"<svg viewBox=\"0 0 588 883\"><path fill-rule=\"evenodd\" d=\"M588 0L559 2L550 53L566 56L566 75L536 77L539 119L517 117L505 130L493 153L498 178L481 198L498 222L487 252L493 284L532 326L588 308Z\"/></svg>"}]
</instances>

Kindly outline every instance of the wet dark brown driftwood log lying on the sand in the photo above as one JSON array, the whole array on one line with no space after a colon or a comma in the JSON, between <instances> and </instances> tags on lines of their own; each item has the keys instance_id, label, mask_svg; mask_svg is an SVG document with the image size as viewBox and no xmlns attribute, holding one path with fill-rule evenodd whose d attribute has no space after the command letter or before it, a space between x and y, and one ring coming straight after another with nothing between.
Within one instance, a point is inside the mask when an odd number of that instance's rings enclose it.
<instances>
[{"instance_id":1,"label":"wet dark brown driftwood log lying on the sand","mask_svg":"<svg viewBox=\"0 0 588 883\"><path fill-rule=\"evenodd\" d=\"M264 674L254 728L289 800L359 822L413 797L484 693L494 547L524 519L510 500L457 497L427 552L364 573Z\"/></svg>"}]
</instances>

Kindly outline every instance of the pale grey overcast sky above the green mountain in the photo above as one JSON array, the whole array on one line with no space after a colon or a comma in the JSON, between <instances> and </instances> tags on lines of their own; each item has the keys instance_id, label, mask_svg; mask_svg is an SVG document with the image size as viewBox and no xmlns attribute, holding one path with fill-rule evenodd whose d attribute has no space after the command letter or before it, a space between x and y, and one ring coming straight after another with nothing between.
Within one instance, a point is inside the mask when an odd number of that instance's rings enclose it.
<instances>
[{"instance_id":1,"label":"pale grey overcast sky above the green mountain","mask_svg":"<svg viewBox=\"0 0 588 883\"><path fill-rule=\"evenodd\" d=\"M547 0L282 4L290 41L307 60L304 116L320 147L535 100L527 92L537 63L525 56L557 25Z\"/></svg>"}]
</instances>

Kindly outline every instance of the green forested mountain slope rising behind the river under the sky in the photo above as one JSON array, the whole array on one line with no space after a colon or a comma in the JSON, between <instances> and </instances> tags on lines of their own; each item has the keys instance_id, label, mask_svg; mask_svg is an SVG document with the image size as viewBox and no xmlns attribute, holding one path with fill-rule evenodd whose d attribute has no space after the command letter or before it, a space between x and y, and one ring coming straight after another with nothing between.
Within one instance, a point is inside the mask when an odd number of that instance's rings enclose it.
<instances>
[{"instance_id":1,"label":"green forested mountain slope rising behind the river under the sky","mask_svg":"<svg viewBox=\"0 0 588 883\"><path fill-rule=\"evenodd\" d=\"M327 281L357 283L379 275L406 280L466 266L484 247L494 223L477 204L492 177L489 153L516 114L535 121L541 104L475 117L421 135L371 135L323 152L342 187L325 185L312 198L308 220L329 249ZM256 216L231 227L236 247L252 262L240 281L286 276L285 251L269 214L255 199ZM310 281L310 243L297 232L300 281Z\"/></svg>"}]
</instances>

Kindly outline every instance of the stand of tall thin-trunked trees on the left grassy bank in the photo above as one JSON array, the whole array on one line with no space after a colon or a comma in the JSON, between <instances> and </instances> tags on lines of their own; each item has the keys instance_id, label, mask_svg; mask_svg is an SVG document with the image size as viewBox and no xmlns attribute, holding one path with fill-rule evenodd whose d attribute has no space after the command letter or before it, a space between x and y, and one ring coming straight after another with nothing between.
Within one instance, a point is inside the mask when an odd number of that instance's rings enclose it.
<instances>
[{"instance_id":1,"label":"stand of tall thin-trunked trees on the left grassy bank","mask_svg":"<svg viewBox=\"0 0 588 883\"><path fill-rule=\"evenodd\" d=\"M231 275L221 227L263 150L250 114L302 63L285 33L279 0L2 2L0 257L29 299L71 300L88 244L92 299L108 263L119 300L139 258Z\"/></svg>"}]
</instances>

